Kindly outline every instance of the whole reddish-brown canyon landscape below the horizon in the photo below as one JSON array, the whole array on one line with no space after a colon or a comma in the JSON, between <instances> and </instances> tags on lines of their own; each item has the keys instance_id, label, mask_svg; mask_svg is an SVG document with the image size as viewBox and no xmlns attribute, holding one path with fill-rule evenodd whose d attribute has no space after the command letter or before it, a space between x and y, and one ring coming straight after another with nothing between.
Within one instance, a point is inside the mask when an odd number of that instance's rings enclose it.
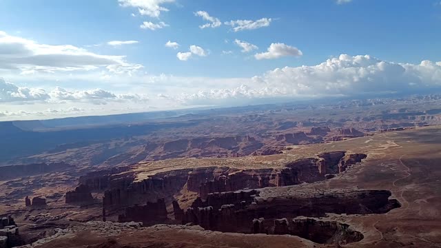
<instances>
[{"instance_id":1,"label":"whole reddish-brown canyon landscape below the horizon","mask_svg":"<svg viewBox=\"0 0 441 248\"><path fill-rule=\"evenodd\" d=\"M166 116L8 155L0 247L439 247L439 100ZM71 132L31 124L7 130Z\"/></svg>"}]
</instances>

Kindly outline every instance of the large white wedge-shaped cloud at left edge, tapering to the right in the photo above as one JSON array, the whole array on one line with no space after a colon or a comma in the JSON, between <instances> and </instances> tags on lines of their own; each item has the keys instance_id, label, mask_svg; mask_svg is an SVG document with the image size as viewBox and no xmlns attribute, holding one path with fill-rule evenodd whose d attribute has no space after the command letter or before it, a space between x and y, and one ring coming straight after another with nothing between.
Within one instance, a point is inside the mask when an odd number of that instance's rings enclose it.
<instances>
[{"instance_id":1,"label":"large white wedge-shaped cloud at left edge, tapering to the right","mask_svg":"<svg viewBox=\"0 0 441 248\"><path fill-rule=\"evenodd\" d=\"M34 72L96 70L101 67L123 70L142 68L125 61L125 56L101 55L74 45L46 45L14 37L0 31L0 69Z\"/></svg>"}]
</instances>

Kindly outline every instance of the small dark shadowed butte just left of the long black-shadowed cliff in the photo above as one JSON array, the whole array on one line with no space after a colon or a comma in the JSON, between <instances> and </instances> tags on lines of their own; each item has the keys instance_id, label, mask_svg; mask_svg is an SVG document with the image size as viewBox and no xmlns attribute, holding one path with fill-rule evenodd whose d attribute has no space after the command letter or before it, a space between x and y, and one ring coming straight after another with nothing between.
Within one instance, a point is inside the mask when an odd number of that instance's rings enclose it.
<instances>
[{"instance_id":1,"label":"small dark shadowed butte just left of the long black-shadowed cliff","mask_svg":"<svg viewBox=\"0 0 441 248\"><path fill-rule=\"evenodd\" d=\"M165 200L158 199L156 203L147 202L146 205L127 207L125 213L118 216L119 222L142 222L143 225L164 223L167 220Z\"/></svg>"}]
</instances>

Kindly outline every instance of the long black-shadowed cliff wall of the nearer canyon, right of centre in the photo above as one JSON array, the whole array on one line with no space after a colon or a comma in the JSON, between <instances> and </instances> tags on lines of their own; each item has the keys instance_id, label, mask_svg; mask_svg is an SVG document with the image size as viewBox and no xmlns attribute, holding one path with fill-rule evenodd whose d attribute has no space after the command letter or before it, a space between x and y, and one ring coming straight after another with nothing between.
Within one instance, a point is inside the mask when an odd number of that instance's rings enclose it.
<instances>
[{"instance_id":1,"label":"long black-shadowed cliff wall of the nearer canyon, right of centre","mask_svg":"<svg viewBox=\"0 0 441 248\"><path fill-rule=\"evenodd\" d=\"M264 218L323 217L334 214L383 214L400 207L397 200L389 200L387 190L340 189L318 192L299 189L291 192L257 189L209 194L207 200L197 198L183 216L182 223L193 223L214 231L250 233L256 227L253 220ZM265 196L269 194L269 196ZM264 195L264 196L262 196ZM258 227L260 229L260 227Z\"/></svg>"}]
</instances>

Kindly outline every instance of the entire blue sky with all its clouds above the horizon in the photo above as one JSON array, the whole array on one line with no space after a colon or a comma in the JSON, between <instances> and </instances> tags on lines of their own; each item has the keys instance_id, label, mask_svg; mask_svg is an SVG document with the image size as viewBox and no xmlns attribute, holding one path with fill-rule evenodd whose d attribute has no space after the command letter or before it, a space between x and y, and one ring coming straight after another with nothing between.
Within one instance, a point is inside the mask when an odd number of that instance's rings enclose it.
<instances>
[{"instance_id":1,"label":"entire blue sky with all its clouds above the horizon","mask_svg":"<svg viewBox=\"0 0 441 248\"><path fill-rule=\"evenodd\" d=\"M0 0L0 121L440 89L440 0Z\"/></svg>"}]
</instances>

